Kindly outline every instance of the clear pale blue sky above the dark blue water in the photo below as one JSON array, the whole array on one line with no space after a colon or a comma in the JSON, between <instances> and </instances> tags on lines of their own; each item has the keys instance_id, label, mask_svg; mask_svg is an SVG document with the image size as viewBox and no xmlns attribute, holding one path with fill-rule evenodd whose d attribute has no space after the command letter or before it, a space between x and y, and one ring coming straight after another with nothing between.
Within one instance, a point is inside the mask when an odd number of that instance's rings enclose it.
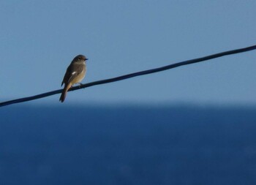
<instances>
[{"instance_id":1,"label":"clear pale blue sky above the dark blue water","mask_svg":"<svg viewBox=\"0 0 256 185\"><path fill-rule=\"evenodd\" d=\"M72 58L82 83L256 44L256 1L0 1L0 100L61 88ZM256 51L72 91L72 103L256 105ZM32 102L61 105L60 94Z\"/></svg>"}]
</instances>

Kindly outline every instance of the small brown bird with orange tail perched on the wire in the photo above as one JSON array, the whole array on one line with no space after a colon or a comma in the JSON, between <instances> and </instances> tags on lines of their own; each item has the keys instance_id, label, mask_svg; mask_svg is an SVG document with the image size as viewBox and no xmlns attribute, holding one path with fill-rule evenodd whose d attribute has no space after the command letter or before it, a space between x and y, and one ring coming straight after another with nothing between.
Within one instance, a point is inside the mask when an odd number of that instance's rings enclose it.
<instances>
[{"instance_id":1,"label":"small brown bird with orange tail perched on the wire","mask_svg":"<svg viewBox=\"0 0 256 185\"><path fill-rule=\"evenodd\" d=\"M86 56L78 55L72 60L71 64L69 64L69 67L67 67L67 71L61 83L61 86L63 83L65 86L59 101L64 102L69 88L72 87L72 85L75 83L80 83L80 81L82 81L86 76L86 60L88 60Z\"/></svg>"}]
</instances>

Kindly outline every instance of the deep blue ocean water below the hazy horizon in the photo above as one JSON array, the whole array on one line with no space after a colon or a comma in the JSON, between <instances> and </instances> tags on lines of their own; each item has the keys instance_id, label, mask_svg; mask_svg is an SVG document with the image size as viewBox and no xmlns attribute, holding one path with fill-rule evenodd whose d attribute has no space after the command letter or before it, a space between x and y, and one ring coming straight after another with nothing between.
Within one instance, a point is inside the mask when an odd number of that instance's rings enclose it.
<instances>
[{"instance_id":1,"label":"deep blue ocean water below the hazy horizon","mask_svg":"<svg viewBox=\"0 0 256 185\"><path fill-rule=\"evenodd\" d=\"M0 184L256 184L256 107L0 108Z\"/></svg>"}]
</instances>

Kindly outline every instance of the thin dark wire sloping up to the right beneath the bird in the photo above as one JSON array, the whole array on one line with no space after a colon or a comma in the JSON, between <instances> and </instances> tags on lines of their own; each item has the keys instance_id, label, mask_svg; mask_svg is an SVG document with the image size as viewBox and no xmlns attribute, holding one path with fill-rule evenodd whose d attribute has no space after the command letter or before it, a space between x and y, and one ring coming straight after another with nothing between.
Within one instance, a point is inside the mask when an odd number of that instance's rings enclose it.
<instances>
[{"instance_id":1,"label":"thin dark wire sloping up to the right beneath the bird","mask_svg":"<svg viewBox=\"0 0 256 185\"><path fill-rule=\"evenodd\" d=\"M116 78L108 78L108 79L105 79L105 80L98 80L98 81L94 81L94 82L91 82L91 83L86 83L86 84L83 84L83 85L80 85L80 86L75 86L75 87L69 88L69 91L75 91L75 90L78 90L80 88L88 88L88 87L91 87L91 86L97 86L97 85L101 85L101 84L104 84L104 83L113 83L113 82L116 82L116 81L119 81L119 80L134 78L134 77L138 77L138 76L141 76L141 75L148 75L148 74L151 74L151 73L154 73L154 72L161 72L161 71L165 71L167 69L173 69L173 68L181 67L181 66L188 65L188 64L195 64L195 63L200 62L200 61L207 61L207 60L210 60L210 59L219 58L219 57L222 57L222 56L233 55L233 54L236 54L236 53L244 53L246 51L255 50L255 49L256 49L256 45L252 45L252 46L249 46L249 47L246 47L246 48L240 48L240 49L236 49L236 50L228 50L228 51L225 51L225 52L222 52L222 53L216 53L216 54L213 54L213 55L210 55L210 56L204 56L204 57L201 57L201 58L195 58L195 59L191 59L191 60L187 60L187 61L181 61L181 62L178 62L178 63L175 63L175 64L170 64L170 65L167 65L167 66L164 66L164 67L148 69L148 70L145 70L145 71L134 72L134 73L131 73L131 74L128 74L128 75L118 76ZM43 97L49 97L49 96L52 96L54 94L59 94L61 92L62 92L62 89L59 89L59 90L56 90L56 91L50 91L50 92L46 92L46 93L42 93L42 94L37 94L37 95L31 96L31 97L23 97L23 98L20 98L20 99L13 99L13 100L10 100L10 101L7 101L7 102L1 102L0 107L16 104L16 103L20 103L20 102L28 102L28 101L31 101L31 100L34 100L34 99L40 99L40 98L43 98Z\"/></svg>"}]
</instances>

